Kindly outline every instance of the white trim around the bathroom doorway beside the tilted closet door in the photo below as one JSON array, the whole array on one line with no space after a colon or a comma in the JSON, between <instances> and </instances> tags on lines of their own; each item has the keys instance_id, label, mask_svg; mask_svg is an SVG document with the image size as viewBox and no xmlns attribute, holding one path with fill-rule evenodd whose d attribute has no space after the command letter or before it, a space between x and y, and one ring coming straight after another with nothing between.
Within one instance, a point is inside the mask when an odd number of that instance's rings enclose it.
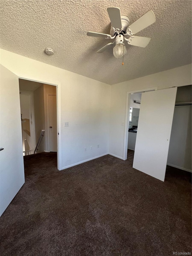
<instances>
[{"instance_id":1,"label":"white trim around the bathroom doorway beside the tilted closet door","mask_svg":"<svg viewBox=\"0 0 192 256\"><path fill-rule=\"evenodd\" d=\"M128 147L128 120L129 120L129 106L130 106L130 95L133 93L156 91L158 87L149 87L136 91L129 91L126 95L126 106L125 106L125 130L124 130L124 142L123 142L123 160L127 159L127 147Z\"/></svg>"}]
</instances>

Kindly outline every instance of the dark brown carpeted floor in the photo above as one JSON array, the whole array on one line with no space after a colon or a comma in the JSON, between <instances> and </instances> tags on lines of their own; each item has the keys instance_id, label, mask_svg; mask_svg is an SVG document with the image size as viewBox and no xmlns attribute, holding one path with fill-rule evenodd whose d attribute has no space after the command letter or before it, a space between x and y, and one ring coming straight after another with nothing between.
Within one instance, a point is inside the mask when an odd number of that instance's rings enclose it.
<instances>
[{"instance_id":1,"label":"dark brown carpeted floor","mask_svg":"<svg viewBox=\"0 0 192 256\"><path fill-rule=\"evenodd\" d=\"M58 171L55 153L24 157L26 182L0 218L0 255L191 252L191 173L168 167L161 182L132 160L106 155Z\"/></svg>"}]
</instances>

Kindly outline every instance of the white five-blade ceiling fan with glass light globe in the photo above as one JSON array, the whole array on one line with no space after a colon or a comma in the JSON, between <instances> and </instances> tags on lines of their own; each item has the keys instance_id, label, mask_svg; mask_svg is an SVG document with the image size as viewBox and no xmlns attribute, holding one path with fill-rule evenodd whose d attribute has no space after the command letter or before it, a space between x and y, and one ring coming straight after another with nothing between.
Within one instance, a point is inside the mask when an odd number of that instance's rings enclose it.
<instances>
[{"instance_id":1,"label":"white five-blade ceiling fan with glass light globe","mask_svg":"<svg viewBox=\"0 0 192 256\"><path fill-rule=\"evenodd\" d=\"M139 47L146 47L149 44L151 38L135 36L135 34L155 22L155 14L153 11L148 11L131 25L129 18L121 15L119 8L110 7L107 8L107 12L111 21L110 35L97 32L87 32L88 36L115 39L112 43L106 44L98 50L97 53L102 53L115 45L115 47L113 47L113 55L119 59L127 53L125 43L123 42L124 40L130 45Z\"/></svg>"}]
</instances>

